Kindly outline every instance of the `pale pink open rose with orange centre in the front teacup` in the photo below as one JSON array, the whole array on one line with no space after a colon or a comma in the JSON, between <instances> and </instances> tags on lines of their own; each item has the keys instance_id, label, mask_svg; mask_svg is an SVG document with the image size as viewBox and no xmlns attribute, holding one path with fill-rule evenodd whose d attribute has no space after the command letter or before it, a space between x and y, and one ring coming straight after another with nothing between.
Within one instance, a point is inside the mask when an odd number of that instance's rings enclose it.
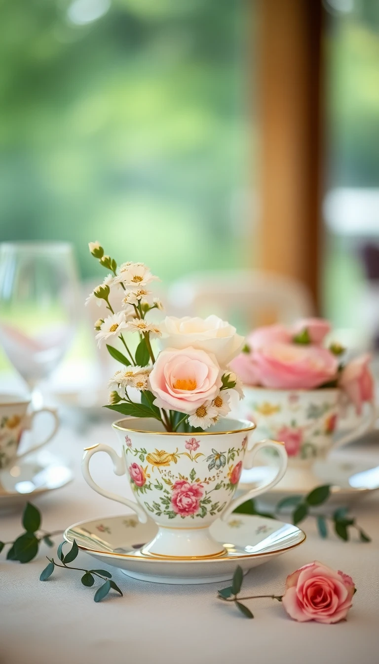
<instances>
[{"instance_id":1,"label":"pale pink open rose with orange centre in the front teacup","mask_svg":"<svg viewBox=\"0 0 379 664\"><path fill-rule=\"evenodd\" d=\"M149 376L154 404L191 415L218 394L221 374L212 353L192 347L161 351Z\"/></svg>"}]
</instances>

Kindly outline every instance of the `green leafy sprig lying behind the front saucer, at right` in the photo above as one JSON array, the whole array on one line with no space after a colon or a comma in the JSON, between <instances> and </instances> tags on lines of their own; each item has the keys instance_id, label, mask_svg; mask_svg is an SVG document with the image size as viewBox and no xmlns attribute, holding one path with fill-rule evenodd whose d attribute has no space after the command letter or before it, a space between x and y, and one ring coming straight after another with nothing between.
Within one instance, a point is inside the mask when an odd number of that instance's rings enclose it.
<instances>
[{"instance_id":1,"label":"green leafy sprig lying behind the front saucer, at right","mask_svg":"<svg viewBox=\"0 0 379 664\"><path fill-rule=\"evenodd\" d=\"M277 505L275 505L273 512L259 511L254 500L243 503L243 505L237 507L234 512L240 514L256 514L260 517L275 519L282 513L283 509L286 507L293 507L291 518L294 525L298 525L307 517L314 517L317 521L319 535L320 537L323 537L323 539L328 537L329 523L333 527L337 537L344 540L344 542L347 542L350 539L350 528L355 529L358 532L361 542L370 542L370 537L368 537L362 528L358 526L356 519L348 515L348 507L339 507L333 512L332 515L311 513L312 507L319 507L319 505L327 503L330 495L331 485L325 484L321 485L320 487L316 487L306 496L293 495L283 498L279 501L279 503L277 503Z\"/></svg>"}]
</instances>

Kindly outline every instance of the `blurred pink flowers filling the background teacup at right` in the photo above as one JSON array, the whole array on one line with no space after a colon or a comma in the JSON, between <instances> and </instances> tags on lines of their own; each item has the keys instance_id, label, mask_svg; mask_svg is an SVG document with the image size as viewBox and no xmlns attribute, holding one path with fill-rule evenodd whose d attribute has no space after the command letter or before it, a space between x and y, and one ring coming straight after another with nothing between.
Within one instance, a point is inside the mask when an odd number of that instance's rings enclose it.
<instances>
[{"instance_id":1,"label":"blurred pink flowers filling the background teacup at right","mask_svg":"<svg viewBox=\"0 0 379 664\"><path fill-rule=\"evenodd\" d=\"M339 356L344 349L323 346L330 331L329 321L319 318L302 319L291 327L260 327L248 336L246 352L232 360L232 369L246 384L271 389L341 387L360 414L362 404L374 399L370 357L342 365Z\"/></svg>"}]
</instances>

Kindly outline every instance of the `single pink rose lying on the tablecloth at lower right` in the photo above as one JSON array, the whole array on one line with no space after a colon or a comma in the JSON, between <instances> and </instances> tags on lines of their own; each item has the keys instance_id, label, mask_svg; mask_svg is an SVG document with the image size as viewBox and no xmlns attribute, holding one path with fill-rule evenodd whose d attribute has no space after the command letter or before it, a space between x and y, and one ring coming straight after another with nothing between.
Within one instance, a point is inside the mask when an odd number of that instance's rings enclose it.
<instances>
[{"instance_id":1,"label":"single pink rose lying on the tablecloth at lower right","mask_svg":"<svg viewBox=\"0 0 379 664\"><path fill-rule=\"evenodd\" d=\"M351 576L315 560L287 576L282 602L293 620L336 623L346 618L353 595Z\"/></svg>"}]
</instances>

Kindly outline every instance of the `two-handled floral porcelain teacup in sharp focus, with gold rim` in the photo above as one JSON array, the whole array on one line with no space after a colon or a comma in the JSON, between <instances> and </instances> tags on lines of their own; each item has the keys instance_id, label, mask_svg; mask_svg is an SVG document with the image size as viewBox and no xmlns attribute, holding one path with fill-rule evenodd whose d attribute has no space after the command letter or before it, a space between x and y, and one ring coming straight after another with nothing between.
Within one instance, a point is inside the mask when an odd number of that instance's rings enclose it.
<instances>
[{"instance_id":1,"label":"two-handled floral porcelain teacup in sharp focus, with gold rim","mask_svg":"<svg viewBox=\"0 0 379 664\"><path fill-rule=\"evenodd\" d=\"M122 446L121 456L107 445L86 448L82 461L84 479L90 487L111 500L127 505L145 523L151 517L159 526L156 537L142 552L173 558L223 555L209 533L211 523L227 519L246 500L275 486L287 467L283 443L264 440L252 443L252 422L223 419L196 434L168 433L161 423L144 418L126 418L112 425ZM242 465L252 466L256 452L276 450L279 469L260 487L235 498ZM114 462L114 473L126 475L135 500L99 487L91 477L90 458L106 452Z\"/></svg>"}]
</instances>

